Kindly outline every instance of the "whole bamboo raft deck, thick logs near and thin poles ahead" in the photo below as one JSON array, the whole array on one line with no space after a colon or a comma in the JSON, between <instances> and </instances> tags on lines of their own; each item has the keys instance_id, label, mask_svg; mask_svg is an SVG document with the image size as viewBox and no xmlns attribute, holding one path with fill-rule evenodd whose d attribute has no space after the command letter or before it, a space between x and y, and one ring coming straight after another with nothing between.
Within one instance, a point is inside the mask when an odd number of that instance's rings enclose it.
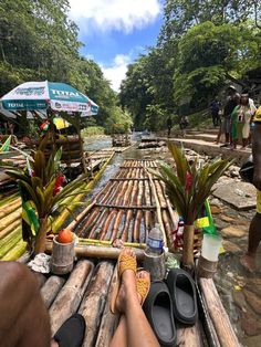
<instances>
[{"instance_id":1,"label":"whole bamboo raft deck, thick logs near and thin poles ahead","mask_svg":"<svg viewBox=\"0 0 261 347\"><path fill-rule=\"evenodd\" d=\"M97 249L106 249L102 256L116 257L119 249L104 246L111 244L111 240L121 236L133 245L136 245L135 242L142 245L155 220L159 220L165 231L169 231L177 217L169 209L161 183L146 171L149 167L156 168L155 161L125 160L115 177L80 213L77 222L71 223L77 234L95 238L91 243L103 246L80 243L76 246L79 261L69 277L35 274L50 313L53 334L64 320L79 312L86 320L83 346L109 345L118 322L118 316L109 311L117 266L114 260L101 260ZM51 251L50 243L48 250ZM143 251L135 250L140 259ZM239 347L212 280L200 280L200 320L191 327L177 325L176 346ZM202 324L208 327L209 343L203 338Z\"/></svg>"}]
</instances>

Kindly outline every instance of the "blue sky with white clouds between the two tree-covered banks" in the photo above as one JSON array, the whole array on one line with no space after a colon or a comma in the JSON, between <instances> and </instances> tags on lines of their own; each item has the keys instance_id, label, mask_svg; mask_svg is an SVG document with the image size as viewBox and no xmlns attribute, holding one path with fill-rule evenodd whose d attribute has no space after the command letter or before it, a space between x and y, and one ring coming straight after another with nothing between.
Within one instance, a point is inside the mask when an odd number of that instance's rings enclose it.
<instances>
[{"instance_id":1,"label":"blue sky with white clouds between the two tree-covered banks","mask_svg":"<svg viewBox=\"0 0 261 347\"><path fill-rule=\"evenodd\" d=\"M81 54L94 60L118 92L127 65L156 43L163 0L70 0L70 6L84 43Z\"/></svg>"}]
</instances>

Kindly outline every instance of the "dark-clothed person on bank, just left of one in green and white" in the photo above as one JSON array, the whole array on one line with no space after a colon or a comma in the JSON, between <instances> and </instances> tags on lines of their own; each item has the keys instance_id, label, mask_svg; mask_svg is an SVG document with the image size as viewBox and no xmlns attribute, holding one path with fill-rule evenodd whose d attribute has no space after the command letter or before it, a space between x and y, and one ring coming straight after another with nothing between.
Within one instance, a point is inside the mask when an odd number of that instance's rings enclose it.
<instances>
[{"instance_id":1,"label":"dark-clothed person on bank, just left of one in green and white","mask_svg":"<svg viewBox=\"0 0 261 347\"><path fill-rule=\"evenodd\" d=\"M228 94L229 96L223 107L223 122L222 122L222 130L221 130L221 133L225 133L226 135L226 143L225 145L220 147L229 147L229 145L232 145L231 115L234 107L238 106L239 101L240 101L240 95L233 85L230 85L228 87Z\"/></svg>"}]
</instances>

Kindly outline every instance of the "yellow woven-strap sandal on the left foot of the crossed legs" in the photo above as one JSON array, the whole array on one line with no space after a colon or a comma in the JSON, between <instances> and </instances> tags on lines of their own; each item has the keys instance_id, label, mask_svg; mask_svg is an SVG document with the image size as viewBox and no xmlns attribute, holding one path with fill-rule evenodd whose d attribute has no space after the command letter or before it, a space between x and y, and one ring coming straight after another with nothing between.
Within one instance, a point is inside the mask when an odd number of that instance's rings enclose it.
<instances>
[{"instance_id":1,"label":"yellow woven-strap sandal on the left foot of the crossed legs","mask_svg":"<svg viewBox=\"0 0 261 347\"><path fill-rule=\"evenodd\" d=\"M116 306L116 299L117 299L117 295L118 295L118 291L121 286L121 276L126 270L133 270L136 274L137 260L136 260L136 256L132 256L129 254L125 254L121 252L118 255L118 261L117 261L117 280L115 283L115 287L113 290L112 302L111 302L111 312L113 314L117 313L117 309L115 306Z\"/></svg>"}]
</instances>

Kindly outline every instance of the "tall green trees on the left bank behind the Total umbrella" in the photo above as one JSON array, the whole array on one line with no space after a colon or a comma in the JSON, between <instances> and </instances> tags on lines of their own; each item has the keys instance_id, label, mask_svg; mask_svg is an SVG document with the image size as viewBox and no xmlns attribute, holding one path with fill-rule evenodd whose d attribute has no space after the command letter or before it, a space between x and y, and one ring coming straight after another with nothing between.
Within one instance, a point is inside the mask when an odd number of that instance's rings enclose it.
<instances>
[{"instance_id":1,"label":"tall green trees on the left bank behind the Total umbrella","mask_svg":"<svg viewBox=\"0 0 261 347\"><path fill-rule=\"evenodd\" d=\"M122 114L117 95L98 64L81 56L69 11L67 0L1 0L0 96L27 81L65 82L98 104L96 124L106 127Z\"/></svg>"}]
</instances>

